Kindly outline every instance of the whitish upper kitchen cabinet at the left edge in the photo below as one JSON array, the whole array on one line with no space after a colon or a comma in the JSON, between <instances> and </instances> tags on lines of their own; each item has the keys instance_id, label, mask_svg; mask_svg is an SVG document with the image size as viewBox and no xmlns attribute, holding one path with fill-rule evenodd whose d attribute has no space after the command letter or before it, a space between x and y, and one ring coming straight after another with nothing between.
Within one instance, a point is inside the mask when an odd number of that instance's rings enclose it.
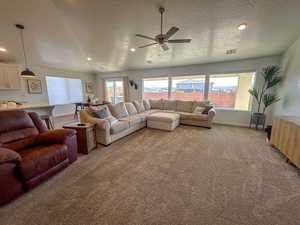
<instances>
[{"instance_id":1,"label":"whitish upper kitchen cabinet at the left edge","mask_svg":"<svg viewBox=\"0 0 300 225\"><path fill-rule=\"evenodd\" d=\"M21 89L21 76L19 66L0 64L0 89Z\"/></svg>"}]
</instances>

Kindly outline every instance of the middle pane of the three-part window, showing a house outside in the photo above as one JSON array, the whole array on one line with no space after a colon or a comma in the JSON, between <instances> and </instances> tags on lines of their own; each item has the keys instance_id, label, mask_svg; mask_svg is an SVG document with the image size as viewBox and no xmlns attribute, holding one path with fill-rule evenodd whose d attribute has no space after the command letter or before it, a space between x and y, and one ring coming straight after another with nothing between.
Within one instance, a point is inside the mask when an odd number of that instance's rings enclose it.
<instances>
[{"instance_id":1,"label":"middle pane of the three-part window, showing a house outside","mask_svg":"<svg viewBox=\"0 0 300 225\"><path fill-rule=\"evenodd\" d=\"M204 99L205 76L172 77L171 98L180 100Z\"/></svg>"}]
</instances>

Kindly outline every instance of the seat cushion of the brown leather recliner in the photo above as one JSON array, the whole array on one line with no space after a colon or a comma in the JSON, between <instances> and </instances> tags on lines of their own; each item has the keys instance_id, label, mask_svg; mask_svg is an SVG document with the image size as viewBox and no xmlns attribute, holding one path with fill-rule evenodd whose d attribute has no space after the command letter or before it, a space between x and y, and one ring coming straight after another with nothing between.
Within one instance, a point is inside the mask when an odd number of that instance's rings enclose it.
<instances>
[{"instance_id":1,"label":"seat cushion of the brown leather recliner","mask_svg":"<svg viewBox=\"0 0 300 225\"><path fill-rule=\"evenodd\" d=\"M27 181L57 166L68 158L67 146L63 144L35 146L20 152L20 173Z\"/></svg>"}]
</instances>

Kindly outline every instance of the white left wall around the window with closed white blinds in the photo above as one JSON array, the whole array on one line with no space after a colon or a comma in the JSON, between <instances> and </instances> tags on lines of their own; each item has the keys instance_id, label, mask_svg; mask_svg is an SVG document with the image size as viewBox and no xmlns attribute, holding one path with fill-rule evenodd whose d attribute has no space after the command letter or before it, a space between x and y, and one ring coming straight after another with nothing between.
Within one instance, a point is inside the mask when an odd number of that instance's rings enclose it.
<instances>
[{"instance_id":1,"label":"white left wall around the window with closed white blinds","mask_svg":"<svg viewBox=\"0 0 300 225\"><path fill-rule=\"evenodd\" d=\"M25 101L27 103L37 103L37 104L49 104L48 102L48 93L47 93L47 85L45 76L57 76L57 77L70 77L70 78L78 78L82 80L84 98L86 98L85 91L85 82L86 81L95 81L95 75L91 75L88 73L80 73L74 71L64 71L57 70L52 68L30 68L36 75L38 75L38 79L42 81L42 94L30 94L28 93L27 87L27 79L21 78L22 89L21 90L0 90L0 101L7 100L16 100L16 101ZM75 108L74 105L59 105L54 109L54 115L68 115L74 113Z\"/></svg>"}]
</instances>

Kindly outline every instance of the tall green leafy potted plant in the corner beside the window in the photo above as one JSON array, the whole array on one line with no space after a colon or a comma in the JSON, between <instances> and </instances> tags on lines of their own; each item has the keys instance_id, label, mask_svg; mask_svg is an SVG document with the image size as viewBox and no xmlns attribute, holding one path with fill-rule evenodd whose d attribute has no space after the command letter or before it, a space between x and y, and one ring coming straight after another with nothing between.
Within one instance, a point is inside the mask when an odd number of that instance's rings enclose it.
<instances>
[{"instance_id":1,"label":"tall green leafy potted plant in the corner beside the window","mask_svg":"<svg viewBox=\"0 0 300 225\"><path fill-rule=\"evenodd\" d=\"M271 92L272 88L282 82L282 77L280 77L279 74L280 67L277 65L263 68L260 73L264 79L263 85L260 88L252 88L249 90L249 93L254 97L258 105L257 112L254 112L251 116L250 126L252 122L256 124L256 128L259 124L264 125L266 109L280 100L275 93Z\"/></svg>"}]
</instances>

